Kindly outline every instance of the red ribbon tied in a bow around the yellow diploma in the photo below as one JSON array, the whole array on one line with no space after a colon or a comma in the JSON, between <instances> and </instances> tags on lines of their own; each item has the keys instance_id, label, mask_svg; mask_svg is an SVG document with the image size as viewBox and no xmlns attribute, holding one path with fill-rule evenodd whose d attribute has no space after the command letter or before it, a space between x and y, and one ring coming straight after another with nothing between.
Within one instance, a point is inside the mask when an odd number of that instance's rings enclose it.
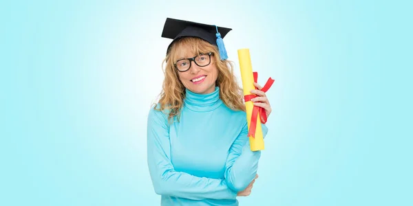
<instances>
[{"instance_id":1,"label":"red ribbon tied in a bow around the yellow diploma","mask_svg":"<svg viewBox=\"0 0 413 206\"><path fill-rule=\"evenodd\" d=\"M253 72L254 75L254 82L257 83L257 79L258 79L258 73L257 72ZM271 85L273 85L275 80L268 78L267 82L265 83L264 87L262 87L262 89L258 89L257 87L255 87L255 89L261 90L261 91L268 91L268 89L270 89ZM257 97L257 95L255 94L249 94L249 95L244 95L244 100L245 102L251 101L251 99ZM251 115L251 122L250 122L250 129L248 131L248 137L254 137L255 138L255 130L257 127L257 116L258 114L260 114L260 119L261 122L263 124L266 123L267 120L267 115L265 113L265 109L260 107L260 106L253 106L253 113Z\"/></svg>"}]
</instances>

